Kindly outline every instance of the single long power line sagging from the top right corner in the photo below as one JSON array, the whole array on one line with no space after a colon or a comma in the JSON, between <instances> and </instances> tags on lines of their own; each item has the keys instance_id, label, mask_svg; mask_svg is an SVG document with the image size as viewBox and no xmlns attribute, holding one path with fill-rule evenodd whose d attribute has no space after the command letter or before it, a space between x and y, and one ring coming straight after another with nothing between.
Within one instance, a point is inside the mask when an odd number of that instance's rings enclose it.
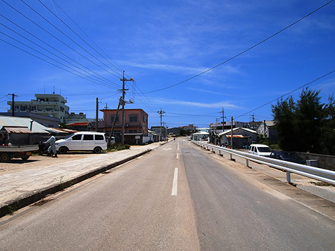
<instances>
[{"instance_id":1,"label":"single long power line sagging from the top right corner","mask_svg":"<svg viewBox=\"0 0 335 251\"><path fill-rule=\"evenodd\" d=\"M262 43L265 43L265 41L269 40L270 38L273 38L274 36L278 35L279 33L283 32L283 31L285 31L286 29L290 28L291 26L297 24L297 23L300 22L301 20L304 20L304 19L305 19L306 17L308 17L309 15L312 15L313 13L317 12L317 11L320 10L321 8L327 6L329 3L332 3L332 1L334 1L334 0L331 0L331 1L327 2L327 3L325 3L325 4L322 5L321 7L319 7L319 8L317 8L317 9L313 10L311 13L308 13L308 14L305 15L304 17L301 17L299 20L297 20L297 21L293 22L292 24L286 26L284 29L281 29L280 31L277 31L277 32L274 33L273 35L271 35L271 36L265 38L264 40L260 41L259 43L256 43L255 45L249 47L248 49L244 50L243 52L240 52L239 54L237 54L237 55L235 55L235 56L232 56L230 59L227 59L227 60L223 61L222 63L219 63L219 64L217 64L216 66L213 66L212 68L209 68L209 69L205 70L204 72L199 73L198 75L195 75L195 76L193 76L193 77L190 77L190 78L188 78L188 79L185 79L185 80L183 80L183 81L181 81L181 82L179 82L179 83L177 83L177 84L172 84L172 85L170 85L170 86L166 86L166 87L164 87L164 88L157 89L157 90L154 90L154 91L147 91L147 92L145 92L145 93L154 93L154 92L156 92L156 91L163 91L163 90L166 90L166 89L170 89L170 88L172 88L172 87L174 87L174 86L177 86L177 85L179 85L179 84L184 84L185 82L188 82L188 81L190 81L191 79L195 79L195 77L199 77L199 76L201 76L201 75L204 75L204 73L208 73L209 71L211 71L211 70L217 68L218 66L222 66L224 63L228 63L228 62L231 61L232 59L237 58L237 56L241 56L241 54L244 54L244 53L248 52L249 50L252 50L253 48L257 47L258 45L261 45Z\"/></svg>"}]
</instances>

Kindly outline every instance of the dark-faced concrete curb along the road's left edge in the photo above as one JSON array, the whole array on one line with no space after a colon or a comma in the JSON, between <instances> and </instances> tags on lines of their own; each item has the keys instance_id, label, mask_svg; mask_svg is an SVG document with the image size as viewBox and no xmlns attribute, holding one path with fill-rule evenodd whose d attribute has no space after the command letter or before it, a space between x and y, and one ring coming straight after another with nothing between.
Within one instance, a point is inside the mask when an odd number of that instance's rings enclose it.
<instances>
[{"instance_id":1,"label":"dark-faced concrete curb along the road's left edge","mask_svg":"<svg viewBox=\"0 0 335 251\"><path fill-rule=\"evenodd\" d=\"M142 153L137 153L136 155L128 157L124 160L119 160L110 165L105 165L103 167L91 170L90 172L87 172L85 174L81 174L80 176L72 178L69 181L65 181L64 183L59 183L57 185L50 185L47 186L46 188L41 188L34 192L30 192L27 193L26 195L17 197L17 199L6 201L5 204L0 207L0 218L3 217L4 215L12 214L14 211L17 211L18 209L23 208L24 206L29 206L30 204L33 204L34 202L39 201L40 199L43 199L47 195L52 195L56 192L62 191L65 188L68 188L72 185L75 185L76 183L80 183L81 181L96 176L97 174L101 174L102 172L105 172L109 169L122 165L130 160L140 157L141 155L149 153L150 151L151 149L143 151Z\"/></svg>"}]
</instances>

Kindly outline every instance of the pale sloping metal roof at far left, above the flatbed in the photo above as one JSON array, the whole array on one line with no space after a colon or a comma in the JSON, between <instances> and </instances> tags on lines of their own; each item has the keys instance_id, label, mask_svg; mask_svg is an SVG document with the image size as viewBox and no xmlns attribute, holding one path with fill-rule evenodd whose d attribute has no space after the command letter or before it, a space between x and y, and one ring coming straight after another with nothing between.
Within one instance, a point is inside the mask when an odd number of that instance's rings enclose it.
<instances>
[{"instance_id":1,"label":"pale sloping metal roof at far left, above the flatbed","mask_svg":"<svg viewBox=\"0 0 335 251\"><path fill-rule=\"evenodd\" d=\"M15 116L0 116L0 128L3 126L16 126L16 127L27 127L30 128L32 119L15 117ZM47 133L47 127L41 125L40 123L34 121L31 132L33 133Z\"/></svg>"}]
</instances>

